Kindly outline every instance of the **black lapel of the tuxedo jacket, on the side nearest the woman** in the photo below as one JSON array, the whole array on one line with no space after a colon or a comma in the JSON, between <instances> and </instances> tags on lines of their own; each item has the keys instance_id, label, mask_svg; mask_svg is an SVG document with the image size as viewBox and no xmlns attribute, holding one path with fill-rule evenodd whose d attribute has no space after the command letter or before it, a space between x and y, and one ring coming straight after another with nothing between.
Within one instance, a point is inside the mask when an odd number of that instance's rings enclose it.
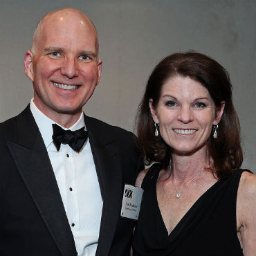
<instances>
[{"instance_id":1,"label":"black lapel of the tuxedo jacket, on the side nearest the woman","mask_svg":"<svg viewBox=\"0 0 256 256\"><path fill-rule=\"evenodd\" d=\"M122 204L122 174L115 139L102 134L94 120L85 116L91 151L103 199L100 237L96 255L108 255Z\"/></svg>"}]
</instances>

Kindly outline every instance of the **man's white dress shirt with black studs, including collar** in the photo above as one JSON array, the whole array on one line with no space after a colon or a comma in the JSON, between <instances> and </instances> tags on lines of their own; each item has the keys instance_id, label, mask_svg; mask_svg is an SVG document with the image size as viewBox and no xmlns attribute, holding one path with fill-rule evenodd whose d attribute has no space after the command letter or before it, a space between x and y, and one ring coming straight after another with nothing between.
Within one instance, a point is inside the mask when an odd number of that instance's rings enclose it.
<instances>
[{"instance_id":1,"label":"man's white dress shirt with black studs, including collar","mask_svg":"<svg viewBox=\"0 0 256 256\"><path fill-rule=\"evenodd\" d=\"M57 152L52 139L52 125L56 122L39 111L33 99L30 101L30 110L53 167L77 253L79 256L95 255L100 232L102 197L89 139L80 153L64 144ZM84 114L81 113L79 120L68 129L74 131L84 126Z\"/></svg>"}]
</instances>

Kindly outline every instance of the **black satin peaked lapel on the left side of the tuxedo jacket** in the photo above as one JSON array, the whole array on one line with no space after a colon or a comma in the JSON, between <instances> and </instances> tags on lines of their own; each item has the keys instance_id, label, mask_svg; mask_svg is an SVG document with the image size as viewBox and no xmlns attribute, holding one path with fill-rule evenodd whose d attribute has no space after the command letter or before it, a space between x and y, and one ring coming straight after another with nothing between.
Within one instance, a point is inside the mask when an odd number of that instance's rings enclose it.
<instances>
[{"instance_id":1,"label":"black satin peaked lapel on the left side of the tuxedo jacket","mask_svg":"<svg viewBox=\"0 0 256 256\"><path fill-rule=\"evenodd\" d=\"M51 161L30 109L17 117L17 127L18 143L8 143L17 169L62 255L76 255Z\"/></svg>"}]
</instances>

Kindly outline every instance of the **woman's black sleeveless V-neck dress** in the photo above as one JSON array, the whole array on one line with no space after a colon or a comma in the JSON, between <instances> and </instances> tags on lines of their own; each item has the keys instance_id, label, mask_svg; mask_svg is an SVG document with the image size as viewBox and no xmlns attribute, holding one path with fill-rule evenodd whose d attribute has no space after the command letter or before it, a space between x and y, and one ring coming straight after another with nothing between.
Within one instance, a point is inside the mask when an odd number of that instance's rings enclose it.
<instances>
[{"instance_id":1,"label":"woman's black sleeveless V-neck dress","mask_svg":"<svg viewBox=\"0 0 256 256\"><path fill-rule=\"evenodd\" d=\"M235 170L228 179L214 183L168 235L156 198L161 169L159 163L152 165L143 179L134 255L243 255L237 237L236 202L244 170Z\"/></svg>"}]
</instances>

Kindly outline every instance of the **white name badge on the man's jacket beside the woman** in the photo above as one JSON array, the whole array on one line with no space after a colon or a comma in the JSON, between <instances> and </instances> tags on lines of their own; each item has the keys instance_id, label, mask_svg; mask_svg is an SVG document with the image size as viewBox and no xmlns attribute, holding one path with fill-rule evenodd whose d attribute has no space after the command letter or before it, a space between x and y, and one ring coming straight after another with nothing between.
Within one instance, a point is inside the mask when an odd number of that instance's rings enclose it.
<instances>
[{"instance_id":1,"label":"white name badge on the man's jacket beside the woman","mask_svg":"<svg viewBox=\"0 0 256 256\"><path fill-rule=\"evenodd\" d=\"M143 189L125 184L122 196L121 216L128 219L138 219L140 213L140 203L143 197Z\"/></svg>"}]
</instances>

